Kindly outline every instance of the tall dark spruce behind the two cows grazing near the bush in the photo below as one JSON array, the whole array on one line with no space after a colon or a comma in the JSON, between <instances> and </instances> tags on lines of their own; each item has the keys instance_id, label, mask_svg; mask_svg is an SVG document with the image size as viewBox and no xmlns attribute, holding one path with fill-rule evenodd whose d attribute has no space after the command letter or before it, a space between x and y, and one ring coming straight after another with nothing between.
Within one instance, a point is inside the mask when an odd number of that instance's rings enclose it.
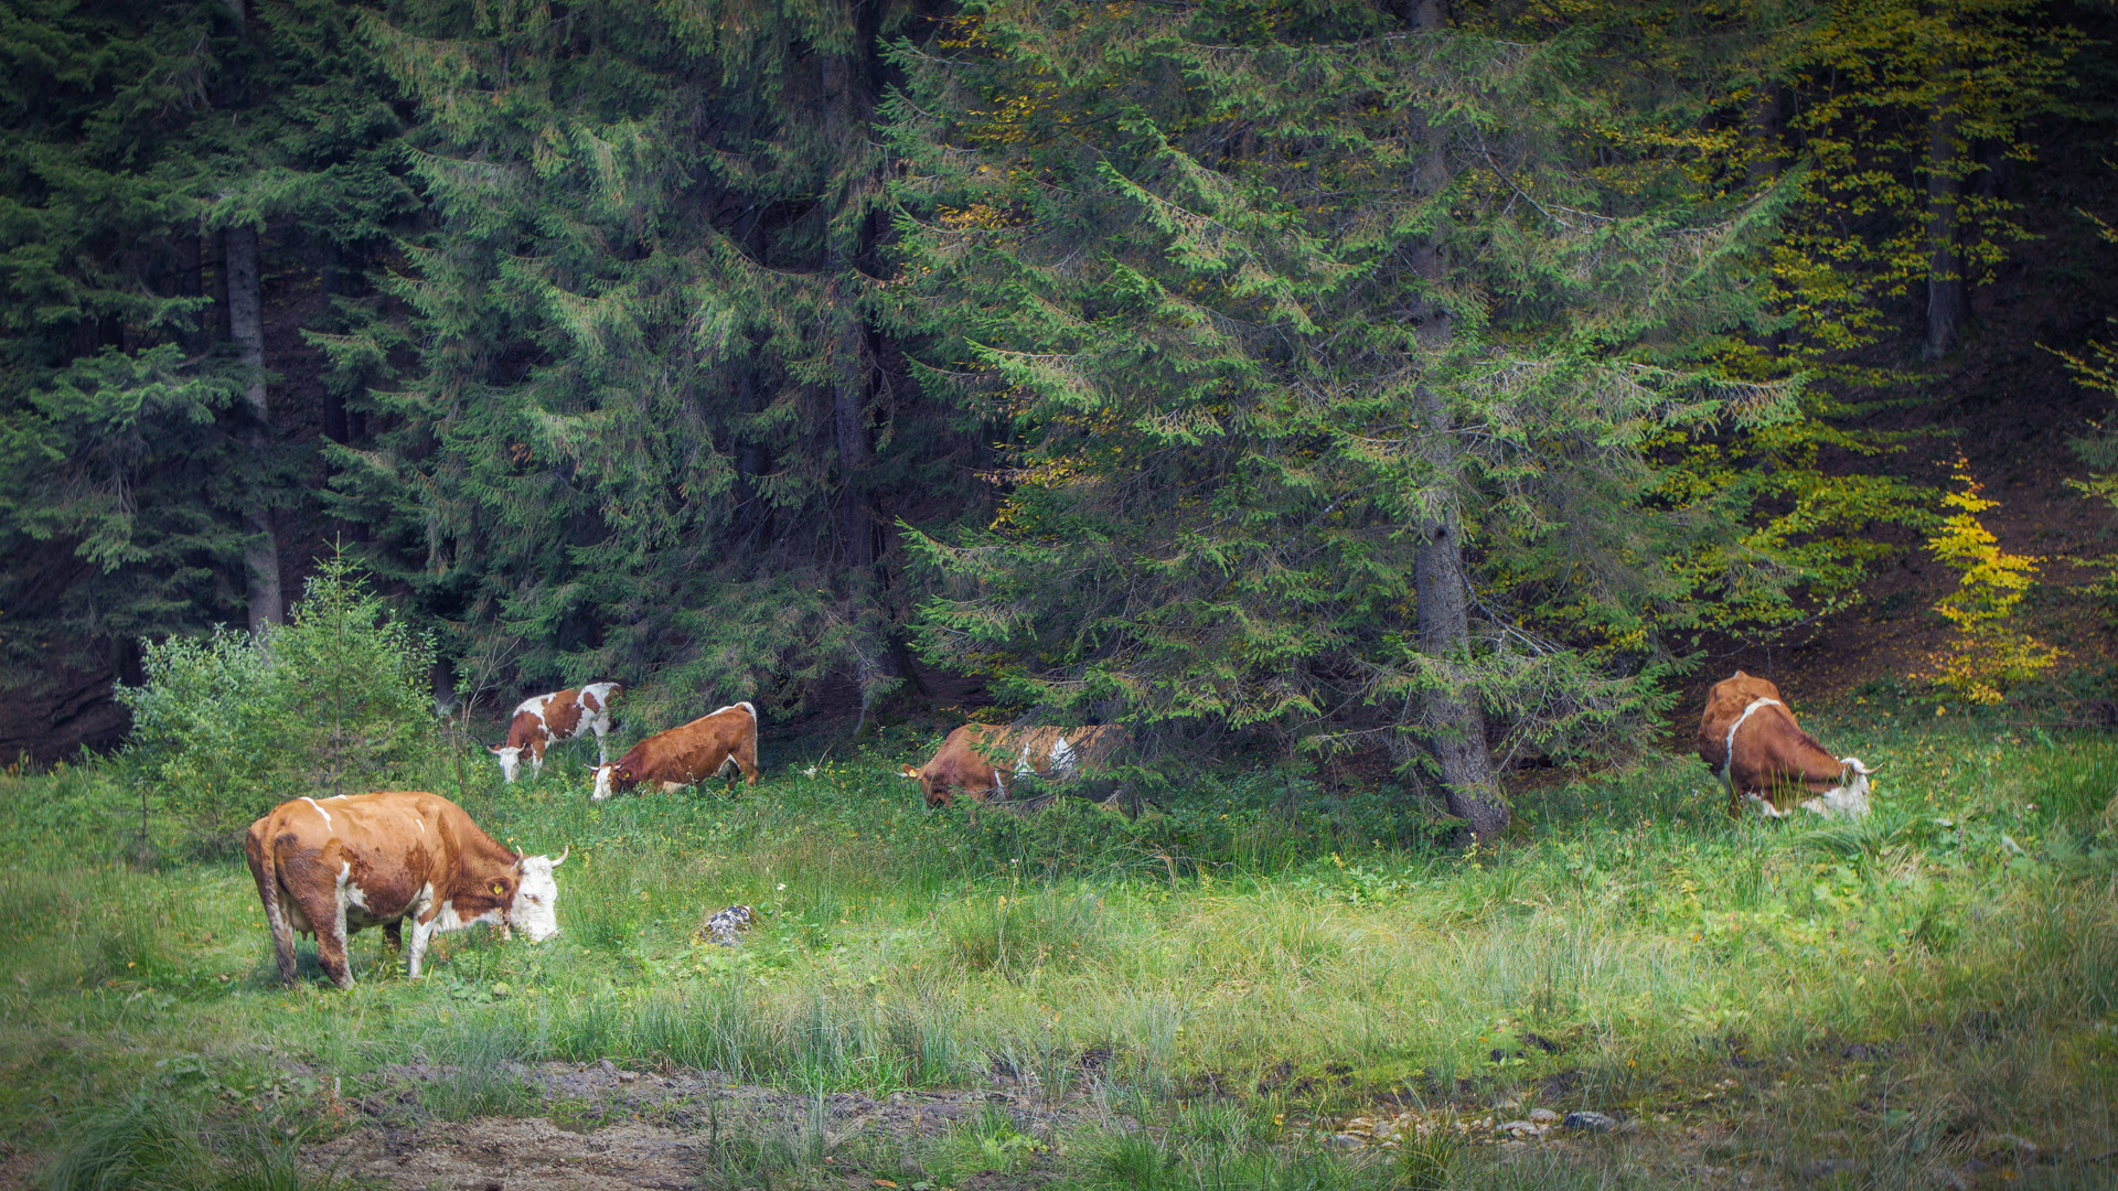
<instances>
[{"instance_id":1,"label":"tall dark spruce behind the two cows grazing near the bush","mask_svg":"<svg viewBox=\"0 0 2118 1191\"><path fill-rule=\"evenodd\" d=\"M411 2L428 220L320 337L375 441L335 509L455 655L623 676L642 723L896 680L890 517L945 492L870 278L881 4ZM402 345L417 343L417 352ZM701 704L705 708L701 708Z\"/></svg>"}]
</instances>

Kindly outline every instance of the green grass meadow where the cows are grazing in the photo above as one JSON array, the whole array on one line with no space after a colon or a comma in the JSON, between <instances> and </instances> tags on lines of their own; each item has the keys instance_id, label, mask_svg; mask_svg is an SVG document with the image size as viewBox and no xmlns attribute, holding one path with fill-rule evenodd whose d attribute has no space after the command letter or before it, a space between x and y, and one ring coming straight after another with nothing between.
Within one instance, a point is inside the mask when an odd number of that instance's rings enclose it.
<instances>
[{"instance_id":1,"label":"green grass meadow where the cows are grazing","mask_svg":"<svg viewBox=\"0 0 2118 1191\"><path fill-rule=\"evenodd\" d=\"M1239 778L1137 824L972 824L892 774L911 735L767 748L741 797L591 805L587 750L513 788L481 763L438 793L572 846L563 932L443 937L421 981L364 932L349 992L309 945L277 985L231 850L140 871L104 769L8 776L0 1157L51 1187L333 1183L299 1146L390 1064L447 1072L407 1121L462 1121L553 1113L510 1064L612 1057L809 1096L1004 1074L1137 1123L758 1142L705 1187L2118 1185L2118 746L1919 706L1813 727L1887 765L1866 822L1730 822L1658 759L1523 786L1480 850ZM737 901L762 924L703 943ZM1629 1125L1495 1144L1533 1108ZM1406 1115L1434 1127L1364 1132Z\"/></svg>"}]
</instances>

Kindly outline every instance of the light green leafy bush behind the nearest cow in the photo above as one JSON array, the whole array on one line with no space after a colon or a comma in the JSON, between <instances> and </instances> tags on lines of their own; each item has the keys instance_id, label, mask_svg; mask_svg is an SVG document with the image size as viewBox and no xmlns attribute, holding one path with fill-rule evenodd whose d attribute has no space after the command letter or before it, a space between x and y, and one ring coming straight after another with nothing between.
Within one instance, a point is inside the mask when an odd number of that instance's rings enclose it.
<instances>
[{"instance_id":1,"label":"light green leafy bush behind the nearest cow","mask_svg":"<svg viewBox=\"0 0 2118 1191\"><path fill-rule=\"evenodd\" d=\"M413 780L434 752L432 657L424 634L330 559L292 623L258 640L218 627L148 642L146 682L116 691L133 712L125 759L193 843L220 852L286 799Z\"/></svg>"}]
</instances>

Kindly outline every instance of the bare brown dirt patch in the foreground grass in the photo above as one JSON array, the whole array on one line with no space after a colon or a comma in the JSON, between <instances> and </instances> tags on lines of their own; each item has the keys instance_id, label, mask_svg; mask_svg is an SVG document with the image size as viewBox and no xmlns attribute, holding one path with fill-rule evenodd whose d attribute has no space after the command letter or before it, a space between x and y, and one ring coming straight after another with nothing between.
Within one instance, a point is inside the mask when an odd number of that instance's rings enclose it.
<instances>
[{"instance_id":1,"label":"bare brown dirt patch in the foreground grass","mask_svg":"<svg viewBox=\"0 0 2118 1191\"><path fill-rule=\"evenodd\" d=\"M860 1138L913 1142L945 1134L985 1106L1004 1106L1023 1134L1051 1140L1091 1123L1131 1127L1080 1094L1046 1104L1036 1087L962 1091L858 1091L818 1102L801 1091L731 1083L710 1070L635 1072L597 1064L513 1068L542 1096L546 1115L421 1119L424 1091L455 1070L390 1066L379 1087L343 1104L347 1134L303 1149L318 1174L424 1191L580 1191L699 1187L718 1142L805 1138L822 1119L824 1146ZM843 1161L843 1159L841 1159ZM858 1172L847 1170L847 1176ZM870 1178L858 1178L862 1187Z\"/></svg>"}]
</instances>

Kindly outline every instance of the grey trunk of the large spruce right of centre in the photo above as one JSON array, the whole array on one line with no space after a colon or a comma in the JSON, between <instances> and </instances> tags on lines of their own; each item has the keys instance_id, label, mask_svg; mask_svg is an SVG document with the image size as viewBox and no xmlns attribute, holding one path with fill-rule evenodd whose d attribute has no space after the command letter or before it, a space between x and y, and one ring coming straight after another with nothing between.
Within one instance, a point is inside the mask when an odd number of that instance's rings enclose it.
<instances>
[{"instance_id":1,"label":"grey trunk of the large spruce right of centre","mask_svg":"<svg viewBox=\"0 0 2118 1191\"><path fill-rule=\"evenodd\" d=\"M1442 0L1419 0L1411 11L1415 30L1442 30L1449 21L1449 6ZM1423 129L1421 129L1423 131ZM1447 161L1440 148L1428 159L1415 186L1434 193L1447 180ZM1415 263L1428 280L1440 280L1447 269L1442 248L1430 244ZM1447 343L1453 335L1451 318L1444 309L1428 307L1421 318L1421 337L1430 345ZM1421 430L1432 451L1447 458L1436 460L1444 477L1459 470L1457 441L1451 432L1449 407L1442 394L1421 390ZM1444 665L1444 685L1428 691L1423 710L1428 748L1442 774L1442 797L1449 814L1466 820L1472 835L1491 839L1508 826L1508 803L1500 799L1500 782L1493 778L1493 754L1485 746L1485 710L1468 676L1455 674L1455 659L1470 659L1470 589L1464 574L1464 534L1455 513L1419 526L1419 547L1413 553L1413 585L1417 587L1419 653L1430 659L1451 659Z\"/></svg>"}]
</instances>

